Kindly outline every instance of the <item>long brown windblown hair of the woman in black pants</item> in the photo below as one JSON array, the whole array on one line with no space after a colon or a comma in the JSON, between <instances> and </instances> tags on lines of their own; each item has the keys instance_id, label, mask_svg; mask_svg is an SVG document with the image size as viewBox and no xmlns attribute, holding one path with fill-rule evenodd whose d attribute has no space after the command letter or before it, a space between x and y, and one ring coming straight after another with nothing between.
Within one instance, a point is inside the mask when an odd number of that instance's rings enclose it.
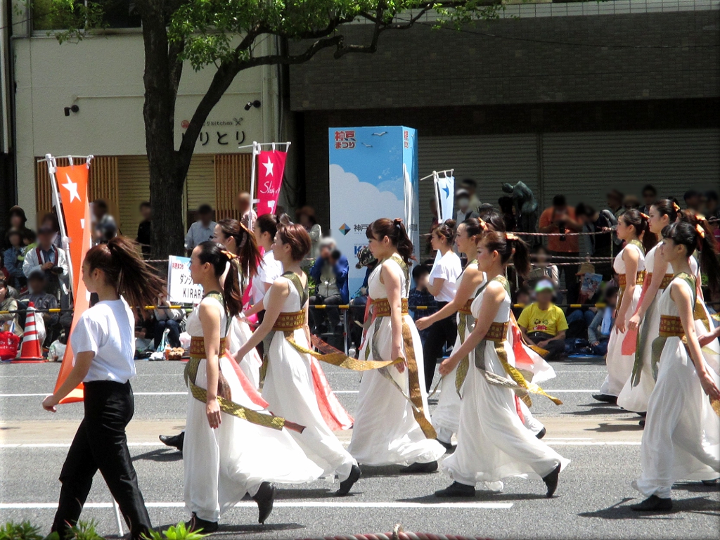
<instances>
[{"instance_id":1,"label":"long brown windblown hair of the woman in black pants","mask_svg":"<svg viewBox=\"0 0 720 540\"><path fill-rule=\"evenodd\" d=\"M117 288L131 306L153 305L163 294L165 282L140 256L135 241L116 236L90 248L85 256L89 270L102 270L107 282Z\"/></svg>"}]
</instances>

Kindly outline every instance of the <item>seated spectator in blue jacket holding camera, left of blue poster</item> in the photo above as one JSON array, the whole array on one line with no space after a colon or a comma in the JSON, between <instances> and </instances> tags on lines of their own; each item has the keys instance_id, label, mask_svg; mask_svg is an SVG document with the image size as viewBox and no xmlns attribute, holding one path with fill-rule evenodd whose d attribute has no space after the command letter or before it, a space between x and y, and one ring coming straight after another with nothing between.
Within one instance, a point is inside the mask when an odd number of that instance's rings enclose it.
<instances>
[{"instance_id":1,"label":"seated spectator in blue jacket holding camera, left of blue poster","mask_svg":"<svg viewBox=\"0 0 720 540\"><path fill-rule=\"evenodd\" d=\"M315 281L315 296L310 305L326 305L325 309L310 309L310 325L314 333L326 333L325 320L330 323L329 331L342 333L340 310L337 305L346 305L348 294L348 258L338 250L335 240L330 237L320 240L320 256L310 269Z\"/></svg>"}]
</instances>

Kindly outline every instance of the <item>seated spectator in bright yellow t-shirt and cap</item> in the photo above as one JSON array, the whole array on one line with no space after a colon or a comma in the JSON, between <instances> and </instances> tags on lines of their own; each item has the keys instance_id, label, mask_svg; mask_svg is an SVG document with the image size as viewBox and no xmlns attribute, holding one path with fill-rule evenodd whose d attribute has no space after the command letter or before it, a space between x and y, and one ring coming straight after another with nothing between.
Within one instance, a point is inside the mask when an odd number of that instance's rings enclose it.
<instances>
[{"instance_id":1,"label":"seated spectator in bright yellow t-shirt and cap","mask_svg":"<svg viewBox=\"0 0 720 540\"><path fill-rule=\"evenodd\" d=\"M567 320L562 310L552 303L555 287L549 279L535 286L536 302L520 314L518 326L528 343L544 348L546 360L558 360L565 351Z\"/></svg>"}]
</instances>

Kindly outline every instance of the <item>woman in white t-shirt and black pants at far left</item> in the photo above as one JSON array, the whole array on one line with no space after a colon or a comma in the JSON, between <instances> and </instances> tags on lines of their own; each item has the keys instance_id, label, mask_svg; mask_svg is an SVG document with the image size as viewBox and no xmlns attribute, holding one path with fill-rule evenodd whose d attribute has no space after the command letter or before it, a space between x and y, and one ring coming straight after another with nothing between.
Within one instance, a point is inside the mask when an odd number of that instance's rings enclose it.
<instances>
[{"instance_id":1,"label":"woman in white t-shirt and black pants at far left","mask_svg":"<svg viewBox=\"0 0 720 540\"><path fill-rule=\"evenodd\" d=\"M122 236L87 252L82 279L88 292L97 293L99 302L80 316L73 330L71 372L42 402L45 410L55 413L56 405L84 383L85 416L60 473L63 487L53 531L61 537L77 523L98 469L132 539L140 539L150 529L125 436L125 426L135 411L130 387L135 377L135 316L130 305L154 302L163 293L163 282L139 253L138 245Z\"/></svg>"}]
</instances>

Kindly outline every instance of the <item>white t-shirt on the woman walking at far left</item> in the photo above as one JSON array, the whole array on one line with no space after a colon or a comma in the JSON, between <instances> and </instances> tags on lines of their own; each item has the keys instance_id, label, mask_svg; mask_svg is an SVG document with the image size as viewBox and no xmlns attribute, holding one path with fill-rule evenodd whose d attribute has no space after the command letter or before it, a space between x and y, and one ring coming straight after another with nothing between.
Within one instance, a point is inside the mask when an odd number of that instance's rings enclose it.
<instances>
[{"instance_id":1,"label":"white t-shirt on the woman walking at far left","mask_svg":"<svg viewBox=\"0 0 720 540\"><path fill-rule=\"evenodd\" d=\"M125 299L104 300L84 312L70 343L74 354L95 353L83 382L124 384L135 377L135 317Z\"/></svg>"}]
</instances>

